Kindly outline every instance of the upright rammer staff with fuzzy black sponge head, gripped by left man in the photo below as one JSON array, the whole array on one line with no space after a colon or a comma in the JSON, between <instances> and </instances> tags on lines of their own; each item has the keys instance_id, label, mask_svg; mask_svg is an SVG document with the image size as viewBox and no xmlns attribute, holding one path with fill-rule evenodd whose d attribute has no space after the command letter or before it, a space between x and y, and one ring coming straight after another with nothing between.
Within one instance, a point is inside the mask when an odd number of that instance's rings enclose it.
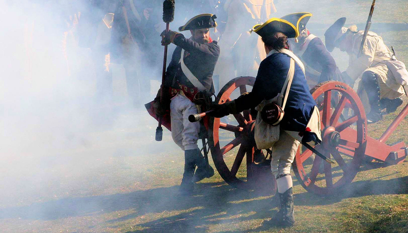
<instances>
[{"instance_id":1,"label":"upright rammer staff with fuzzy black sponge head, gripped by left man","mask_svg":"<svg viewBox=\"0 0 408 233\"><path fill-rule=\"evenodd\" d=\"M169 33L169 24L174 19L174 0L165 0L163 2L163 21L166 23L166 34ZM160 103L163 102L163 88L164 79L166 76L166 62L167 62L167 45L164 46L163 56L163 72L162 72L162 85L160 86ZM162 118L159 117L159 125L156 128L156 141L161 141L163 138Z\"/></svg>"}]
</instances>

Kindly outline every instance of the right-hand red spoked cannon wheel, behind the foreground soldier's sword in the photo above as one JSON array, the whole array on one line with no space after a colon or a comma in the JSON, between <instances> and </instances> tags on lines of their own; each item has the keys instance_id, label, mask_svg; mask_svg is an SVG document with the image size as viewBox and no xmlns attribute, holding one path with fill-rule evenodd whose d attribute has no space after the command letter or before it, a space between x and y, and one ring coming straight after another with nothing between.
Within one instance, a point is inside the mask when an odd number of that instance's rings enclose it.
<instances>
[{"instance_id":1,"label":"right-hand red spoked cannon wheel, behind the foreground soldier's sword","mask_svg":"<svg viewBox=\"0 0 408 233\"><path fill-rule=\"evenodd\" d=\"M301 144L293 170L307 191L330 195L350 184L359 170L366 151L366 114L357 93L342 82L323 82L310 93L319 100L322 127L322 144L315 149L337 163L312 156Z\"/></svg>"}]
</instances>

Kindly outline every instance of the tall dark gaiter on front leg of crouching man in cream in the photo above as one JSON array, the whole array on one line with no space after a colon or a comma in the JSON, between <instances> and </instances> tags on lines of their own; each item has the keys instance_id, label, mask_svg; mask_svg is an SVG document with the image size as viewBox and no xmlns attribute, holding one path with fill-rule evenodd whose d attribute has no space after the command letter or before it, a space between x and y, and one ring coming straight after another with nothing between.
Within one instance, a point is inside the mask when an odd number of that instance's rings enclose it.
<instances>
[{"instance_id":1,"label":"tall dark gaiter on front leg of crouching man in cream","mask_svg":"<svg viewBox=\"0 0 408 233\"><path fill-rule=\"evenodd\" d=\"M375 123L382 119L380 108L380 88L378 86L376 73L366 71L361 77L364 89L366 90L368 102L370 103L370 113L367 114L367 123Z\"/></svg>"}]
</instances>

